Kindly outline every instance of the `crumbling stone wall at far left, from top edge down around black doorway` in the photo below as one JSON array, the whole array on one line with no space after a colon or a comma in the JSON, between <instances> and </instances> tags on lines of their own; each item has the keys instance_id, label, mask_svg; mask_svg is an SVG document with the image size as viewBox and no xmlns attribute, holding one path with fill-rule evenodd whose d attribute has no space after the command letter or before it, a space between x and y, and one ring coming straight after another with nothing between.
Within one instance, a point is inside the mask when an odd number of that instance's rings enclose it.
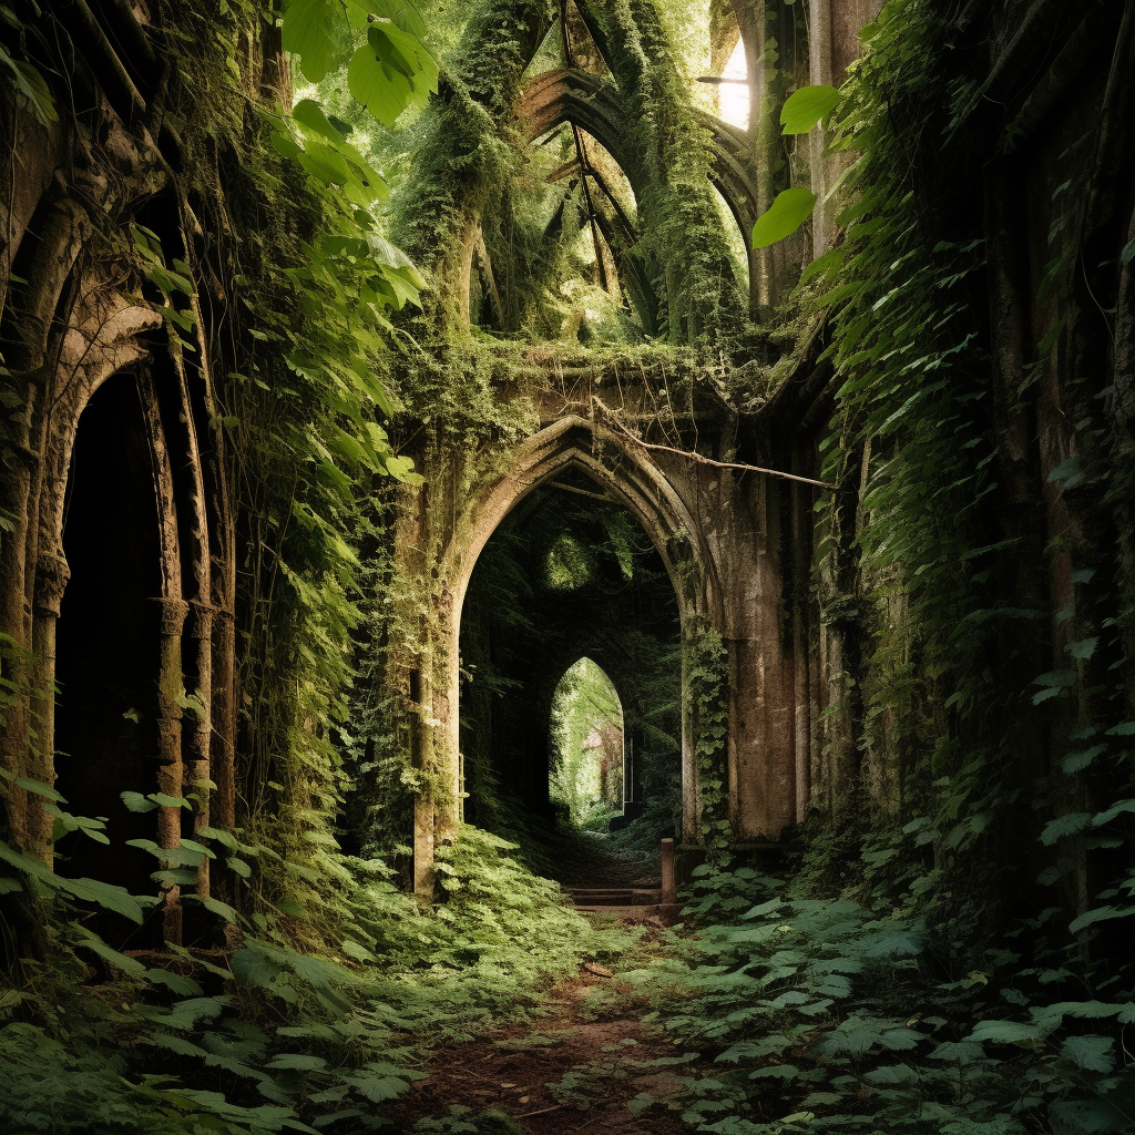
<instances>
[{"instance_id":1,"label":"crumbling stone wall at far left, from top edge down around black doorway","mask_svg":"<svg viewBox=\"0 0 1135 1135\"><path fill-rule=\"evenodd\" d=\"M154 234L176 234L183 221L176 135L159 131L158 90L140 90L124 69L125 60L135 76L152 75L155 59L138 25L116 16L72 27L81 15L69 8L60 27L83 44L69 76L82 109L44 123L6 87L0 118L0 150L12 155L0 192L0 632L15 691L2 762L12 777L45 785L60 777L79 792L94 785L94 799L68 804L82 813L112 801L116 836L126 823L120 792L194 796L192 819L166 805L143 825L173 848L183 827L232 823L234 814L229 519L208 372L187 365L163 330L162 306L187 297L163 296L146 277L152 261L138 254L141 238L160 262ZM87 413L93 400L110 412ZM94 496L87 485L98 486ZM101 519L78 514L89 510L102 510ZM90 575L72 580L68 547ZM132 573L136 580L118 587ZM111 591L100 594L98 578ZM82 598L70 599L69 587ZM124 621L108 622L114 611ZM58 696L57 639L72 661ZM119 655L140 661L111 661ZM128 698L127 665L137 675ZM108 748L116 728L123 737ZM58 748L60 733L68 751ZM138 762L124 764L123 747ZM41 798L9 785L5 802L6 836L50 857L52 821ZM104 866L108 881L124 877L117 861ZM207 868L200 891L209 893ZM163 888L162 899L176 940L177 888Z\"/></svg>"}]
</instances>

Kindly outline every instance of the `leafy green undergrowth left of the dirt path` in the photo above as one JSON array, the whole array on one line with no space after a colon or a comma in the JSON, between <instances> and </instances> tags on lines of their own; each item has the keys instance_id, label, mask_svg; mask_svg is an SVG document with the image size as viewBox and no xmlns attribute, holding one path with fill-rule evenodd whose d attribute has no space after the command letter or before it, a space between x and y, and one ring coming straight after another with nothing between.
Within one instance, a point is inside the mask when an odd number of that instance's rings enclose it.
<instances>
[{"instance_id":1,"label":"leafy green undergrowth left of the dirt path","mask_svg":"<svg viewBox=\"0 0 1135 1135\"><path fill-rule=\"evenodd\" d=\"M431 908L400 893L381 863L355 861L355 922L336 949L312 949L300 916L245 919L212 902L232 947L165 952L148 968L72 909L49 960L25 961L23 984L0 994L0 1130L382 1127L382 1105L420 1076L423 1048L526 1019L554 980L632 944L564 906L511 850L464 829L439 856L444 896ZM98 984L92 960L104 967Z\"/></svg>"}]
</instances>

